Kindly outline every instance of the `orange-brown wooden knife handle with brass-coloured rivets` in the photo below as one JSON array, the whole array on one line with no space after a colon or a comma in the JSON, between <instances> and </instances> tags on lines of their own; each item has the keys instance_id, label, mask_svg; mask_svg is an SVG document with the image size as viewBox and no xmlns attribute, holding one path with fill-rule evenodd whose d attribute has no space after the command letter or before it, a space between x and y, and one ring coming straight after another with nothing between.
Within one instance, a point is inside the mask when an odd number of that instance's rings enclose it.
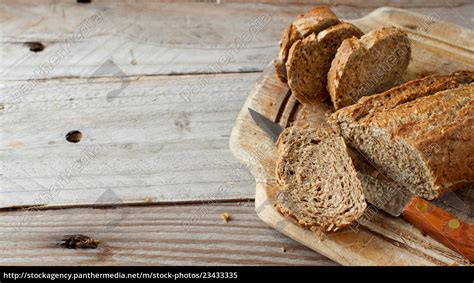
<instances>
[{"instance_id":1,"label":"orange-brown wooden knife handle with brass-coloured rivets","mask_svg":"<svg viewBox=\"0 0 474 283\"><path fill-rule=\"evenodd\" d=\"M432 238L474 262L474 227L430 202L414 196L403 218Z\"/></svg>"}]
</instances>

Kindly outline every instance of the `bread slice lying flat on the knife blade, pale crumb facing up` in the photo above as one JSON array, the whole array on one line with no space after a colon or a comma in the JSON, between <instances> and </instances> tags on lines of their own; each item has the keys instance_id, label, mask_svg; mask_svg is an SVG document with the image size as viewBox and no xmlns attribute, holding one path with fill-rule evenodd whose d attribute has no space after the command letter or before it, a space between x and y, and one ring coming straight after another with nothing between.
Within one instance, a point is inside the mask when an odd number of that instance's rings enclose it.
<instances>
[{"instance_id":1,"label":"bread slice lying flat on the knife blade, pale crumb facing up","mask_svg":"<svg viewBox=\"0 0 474 283\"><path fill-rule=\"evenodd\" d=\"M277 208L321 235L358 219L366 202L344 140L326 130L290 127L277 142Z\"/></svg>"}]
</instances>

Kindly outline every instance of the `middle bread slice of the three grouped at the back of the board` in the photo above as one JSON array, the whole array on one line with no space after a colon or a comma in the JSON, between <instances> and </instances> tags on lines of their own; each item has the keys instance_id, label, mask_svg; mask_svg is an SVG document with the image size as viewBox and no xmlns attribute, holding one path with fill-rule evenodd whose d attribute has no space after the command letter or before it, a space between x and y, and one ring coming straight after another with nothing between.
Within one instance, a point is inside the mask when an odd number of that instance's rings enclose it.
<instances>
[{"instance_id":1,"label":"middle bread slice of the three grouped at the back of the board","mask_svg":"<svg viewBox=\"0 0 474 283\"><path fill-rule=\"evenodd\" d=\"M349 23L329 27L297 40L290 48L286 70L293 95L303 104L319 104L329 95L327 73L337 48L346 38L360 37L362 31Z\"/></svg>"}]
</instances>

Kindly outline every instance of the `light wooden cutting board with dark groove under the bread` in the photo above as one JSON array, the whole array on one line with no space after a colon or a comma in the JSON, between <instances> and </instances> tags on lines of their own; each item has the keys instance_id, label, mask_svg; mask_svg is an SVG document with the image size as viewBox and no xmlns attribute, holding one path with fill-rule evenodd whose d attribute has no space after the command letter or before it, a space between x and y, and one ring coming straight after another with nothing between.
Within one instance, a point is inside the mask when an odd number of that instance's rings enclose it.
<instances>
[{"instance_id":1,"label":"light wooden cutting board with dark groove under the bread","mask_svg":"<svg viewBox=\"0 0 474 283\"><path fill-rule=\"evenodd\" d=\"M436 13L422 16L400 9L380 8L352 22L364 32L395 25L409 34L412 61L402 80L474 68L474 32L441 22L441 15ZM328 234L323 241L284 218L273 206L276 148L251 119L249 107L283 127L305 122L311 122L313 126L324 123L324 115L332 109L329 104L312 110L302 108L291 96L288 86L276 78L271 64L250 93L232 131L230 147L256 179L256 212L268 225L343 265L469 264L462 255L424 236L405 220L382 211L366 211L363 221ZM472 205L472 199L464 199L463 203L466 202L469 202L467 207Z\"/></svg>"}]
</instances>

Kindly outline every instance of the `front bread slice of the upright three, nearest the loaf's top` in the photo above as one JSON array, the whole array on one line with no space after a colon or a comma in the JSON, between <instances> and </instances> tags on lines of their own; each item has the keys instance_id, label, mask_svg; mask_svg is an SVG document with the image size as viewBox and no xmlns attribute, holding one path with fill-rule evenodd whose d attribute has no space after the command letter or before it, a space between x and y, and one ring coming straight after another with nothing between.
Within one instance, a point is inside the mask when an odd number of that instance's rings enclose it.
<instances>
[{"instance_id":1,"label":"front bread slice of the upright three, nearest the loaf's top","mask_svg":"<svg viewBox=\"0 0 474 283\"><path fill-rule=\"evenodd\" d=\"M405 73L410 57L408 35L396 27L344 40L328 72L327 88L334 108L391 88Z\"/></svg>"}]
</instances>

